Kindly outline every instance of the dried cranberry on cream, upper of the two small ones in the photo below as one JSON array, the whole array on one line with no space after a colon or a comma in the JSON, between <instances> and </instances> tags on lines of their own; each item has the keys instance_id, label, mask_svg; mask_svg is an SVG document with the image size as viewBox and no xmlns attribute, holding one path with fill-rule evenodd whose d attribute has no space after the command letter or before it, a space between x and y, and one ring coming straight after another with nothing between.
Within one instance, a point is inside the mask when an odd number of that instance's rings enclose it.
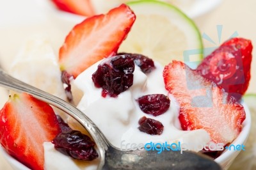
<instances>
[{"instance_id":1,"label":"dried cranberry on cream, upper of the two small ones","mask_svg":"<svg viewBox=\"0 0 256 170\"><path fill-rule=\"evenodd\" d=\"M170 107L170 99L162 94L145 95L138 98L137 101L141 111L154 116L163 114Z\"/></svg>"}]
</instances>

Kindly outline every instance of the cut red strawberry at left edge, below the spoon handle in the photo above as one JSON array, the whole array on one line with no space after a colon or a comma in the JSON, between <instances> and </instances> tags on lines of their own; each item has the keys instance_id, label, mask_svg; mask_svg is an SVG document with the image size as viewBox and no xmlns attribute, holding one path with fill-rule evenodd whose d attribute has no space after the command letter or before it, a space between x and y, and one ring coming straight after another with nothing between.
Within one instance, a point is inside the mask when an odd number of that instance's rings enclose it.
<instances>
[{"instance_id":1,"label":"cut red strawberry at left edge, below the spoon handle","mask_svg":"<svg viewBox=\"0 0 256 170\"><path fill-rule=\"evenodd\" d=\"M0 111L0 143L31 169L44 169L44 142L61 132L52 107L26 93L15 94Z\"/></svg>"}]
</instances>

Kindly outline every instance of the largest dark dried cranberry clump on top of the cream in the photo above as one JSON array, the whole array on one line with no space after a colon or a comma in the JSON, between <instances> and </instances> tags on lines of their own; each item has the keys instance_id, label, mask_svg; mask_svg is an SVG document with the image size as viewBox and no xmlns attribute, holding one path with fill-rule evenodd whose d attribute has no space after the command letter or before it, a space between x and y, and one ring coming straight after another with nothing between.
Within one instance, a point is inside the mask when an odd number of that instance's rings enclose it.
<instances>
[{"instance_id":1,"label":"largest dark dried cranberry clump on top of the cream","mask_svg":"<svg viewBox=\"0 0 256 170\"><path fill-rule=\"evenodd\" d=\"M95 87L102 88L102 96L117 97L133 84L134 62L132 58L122 55L108 58L92 75Z\"/></svg>"}]
</instances>

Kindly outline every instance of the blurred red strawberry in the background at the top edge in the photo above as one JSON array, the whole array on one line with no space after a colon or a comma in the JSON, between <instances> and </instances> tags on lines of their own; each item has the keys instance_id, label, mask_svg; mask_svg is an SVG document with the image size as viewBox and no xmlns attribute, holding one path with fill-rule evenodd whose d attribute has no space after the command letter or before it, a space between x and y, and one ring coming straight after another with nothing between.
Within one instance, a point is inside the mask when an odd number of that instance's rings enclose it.
<instances>
[{"instance_id":1,"label":"blurred red strawberry in the background at the top edge","mask_svg":"<svg viewBox=\"0 0 256 170\"><path fill-rule=\"evenodd\" d=\"M52 0L52 2L65 12L76 13L78 15L92 16L94 10L90 0Z\"/></svg>"}]
</instances>

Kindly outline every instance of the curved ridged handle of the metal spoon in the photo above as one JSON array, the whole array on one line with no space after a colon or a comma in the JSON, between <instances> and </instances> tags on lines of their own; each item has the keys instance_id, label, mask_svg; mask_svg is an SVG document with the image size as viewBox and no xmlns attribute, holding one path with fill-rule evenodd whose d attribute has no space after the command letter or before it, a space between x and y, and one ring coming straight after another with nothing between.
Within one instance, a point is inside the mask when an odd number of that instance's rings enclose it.
<instances>
[{"instance_id":1,"label":"curved ridged handle of the metal spoon","mask_svg":"<svg viewBox=\"0 0 256 170\"><path fill-rule=\"evenodd\" d=\"M102 132L99 130L99 128L95 125L95 123L93 123L93 121L90 120L90 118L88 118L83 112L79 111L79 109L77 109L71 104L68 104L61 98L55 97L49 93L46 93L45 91L42 91L38 88L30 86L29 84L26 84L25 82L13 78L1 69L0 86L3 86L7 89L12 89L13 91L17 91L19 93L29 93L30 95L33 95L39 100L47 102L48 104L51 104L55 107L58 107L58 109L67 112L67 114L69 114L79 123L81 123L81 125L83 125L83 127L86 128L86 130L88 130L88 132L92 135L95 143L97 144L97 147L99 148L101 160L104 161L105 151L108 150L109 146L108 140L106 139L104 134L102 134ZM104 164L104 162L102 161L100 163Z\"/></svg>"}]
</instances>

